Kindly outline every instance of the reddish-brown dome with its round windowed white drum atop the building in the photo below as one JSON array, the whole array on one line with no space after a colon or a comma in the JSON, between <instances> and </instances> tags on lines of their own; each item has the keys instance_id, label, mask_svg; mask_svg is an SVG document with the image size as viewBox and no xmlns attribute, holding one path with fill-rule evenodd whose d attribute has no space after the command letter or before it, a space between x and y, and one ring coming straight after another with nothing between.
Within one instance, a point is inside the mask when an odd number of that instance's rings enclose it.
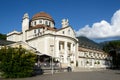
<instances>
[{"instance_id":1,"label":"reddish-brown dome with its round windowed white drum atop the building","mask_svg":"<svg viewBox=\"0 0 120 80\"><path fill-rule=\"evenodd\" d=\"M31 27L35 27L36 25L45 25L47 27L54 28L55 22L49 14L40 12L35 14L30 22Z\"/></svg>"}]
</instances>

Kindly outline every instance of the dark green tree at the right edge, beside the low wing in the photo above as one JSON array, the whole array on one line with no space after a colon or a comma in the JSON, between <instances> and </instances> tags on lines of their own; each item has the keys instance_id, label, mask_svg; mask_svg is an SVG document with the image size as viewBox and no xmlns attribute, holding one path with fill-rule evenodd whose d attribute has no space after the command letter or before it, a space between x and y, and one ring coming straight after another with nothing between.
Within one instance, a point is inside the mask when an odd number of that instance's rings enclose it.
<instances>
[{"instance_id":1,"label":"dark green tree at the right edge, beside the low wing","mask_svg":"<svg viewBox=\"0 0 120 80\"><path fill-rule=\"evenodd\" d=\"M113 66L116 68L120 67L120 41L108 42L104 45L103 50L112 56Z\"/></svg>"}]
</instances>

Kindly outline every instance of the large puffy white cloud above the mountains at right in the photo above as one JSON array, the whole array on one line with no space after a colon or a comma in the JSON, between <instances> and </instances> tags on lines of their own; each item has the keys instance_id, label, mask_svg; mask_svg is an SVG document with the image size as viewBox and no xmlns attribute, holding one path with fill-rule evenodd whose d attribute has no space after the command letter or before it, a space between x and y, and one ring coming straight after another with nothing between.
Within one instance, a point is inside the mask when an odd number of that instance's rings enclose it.
<instances>
[{"instance_id":1,"label":"large puffy white cloud above the mountains at right","mask_svg":"<svg viewBox=\"0 0 120 80\"><path fill-rule=\"evenodd\" d=\"M90 27L86 25L76 31L77 36L86 36L91 39L120 37L120 10L116 11L111 19L111 23L105 20L96 22Z\"/></svg>"}]
</instances>

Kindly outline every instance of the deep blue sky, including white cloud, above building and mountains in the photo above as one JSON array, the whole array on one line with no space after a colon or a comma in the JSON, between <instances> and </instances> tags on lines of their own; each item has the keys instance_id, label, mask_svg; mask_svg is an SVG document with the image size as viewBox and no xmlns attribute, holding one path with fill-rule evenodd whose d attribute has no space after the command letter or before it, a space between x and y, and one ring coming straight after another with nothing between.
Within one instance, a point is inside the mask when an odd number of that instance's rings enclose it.
<instances>
[{"instance_id":1,"label":"deep blue sky, including white cloud, above building and mountains","mask_svg":"<svg viewBox=\"0 0 120 80\"><path fill-rule=\"evenodd\" d=\"M118 25L115 28L118 30L116 34L109 34L116 30L105 32L108 31L108 26L110 25L111 28L116 20L119 23L119 9L120 0L0 0L0 33L21 31L24 13L27 12L32 18L34 14L44 11L53 17L57 28L61 27L63 18L69 19L69 24L78 36L84 35L98 42L119 39L120 25L116 24ZM104 31L98 30L101 26L105 26Z\"/></svg>"}]
</instances>

